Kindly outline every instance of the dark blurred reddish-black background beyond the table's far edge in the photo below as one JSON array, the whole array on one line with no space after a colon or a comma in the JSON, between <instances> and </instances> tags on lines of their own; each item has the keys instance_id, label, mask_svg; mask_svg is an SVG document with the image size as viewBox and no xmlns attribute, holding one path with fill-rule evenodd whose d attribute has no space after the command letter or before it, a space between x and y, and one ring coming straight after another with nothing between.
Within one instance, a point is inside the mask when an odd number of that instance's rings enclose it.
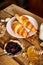
<instances>
[{"instance_id":1,"label":"dark blurred reddish-black background beyond the table's far edge","mask_svg":"<svg viewBox=\"0 0 43 65\"><path fill-rule=\"evenodd\" d=\"M43 18L43 0L0 0L0 10L16 4Z\"/></svg>"}]
</instances>

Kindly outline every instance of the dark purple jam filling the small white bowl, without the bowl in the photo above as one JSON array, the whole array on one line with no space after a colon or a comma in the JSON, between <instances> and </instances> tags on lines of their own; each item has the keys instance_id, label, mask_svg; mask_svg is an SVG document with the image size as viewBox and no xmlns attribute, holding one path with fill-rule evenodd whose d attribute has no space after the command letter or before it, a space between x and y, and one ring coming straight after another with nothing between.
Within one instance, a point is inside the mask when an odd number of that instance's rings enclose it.
<instances>
[{"instance_id":1,"label":"dark purple jam filling the small white bowl, without the bowl","mask_svg":"<svg viewBox=\"0 0 43 65\"><path fill-rule=\"evenodd\" d=\"M5 49L8 53L11 53L13 55L15 55L16 53L22 50L21 46L17 42L12 42L12 41L8 42Z\"/></svg>"}]
</instances>

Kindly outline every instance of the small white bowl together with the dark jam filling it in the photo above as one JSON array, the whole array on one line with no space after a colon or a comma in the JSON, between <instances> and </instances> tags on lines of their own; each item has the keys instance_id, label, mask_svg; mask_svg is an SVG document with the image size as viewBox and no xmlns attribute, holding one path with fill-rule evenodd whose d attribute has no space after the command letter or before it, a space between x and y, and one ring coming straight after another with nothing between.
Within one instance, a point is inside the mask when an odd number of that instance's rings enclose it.
<instances>
[{"instance_id":1,"label":"small white bowl together with the dark jam filling it","mask_svg":"<svg viewBox=\"0 0 43 65\"><path fill-rule=\"evenodd\" d=\"M4 46L4 52L11 56L17 56L23 50L23 46L17 40L10 40Z\"/></svg>"}]
</instances>

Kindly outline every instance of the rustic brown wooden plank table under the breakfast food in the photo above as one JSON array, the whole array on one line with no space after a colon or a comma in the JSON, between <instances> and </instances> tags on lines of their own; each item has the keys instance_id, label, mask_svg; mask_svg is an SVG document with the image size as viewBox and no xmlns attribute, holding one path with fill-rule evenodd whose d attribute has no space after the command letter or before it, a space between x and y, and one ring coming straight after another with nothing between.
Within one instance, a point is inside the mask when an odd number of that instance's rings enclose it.
<instances>
[{"instance_id":1,"label":"rustic brown wooden plank table under the breakfast food","mask_svg":"<svg viewBox=\"0 0 43 65\"><path fill-rule=\"evenodd\" d=\"M43 19L41 17L39 17L39 16L29 12L29 11L26 11L26 10L24 10L24 9L14 5L14 4L12 4L12 5L8 6L7 8L3 9L2 11L0 11L0 19L5 19L7 17L11 18L16 13L21 14L21 15L27 14L29 16L34 17L37 20L39 26L43 22ZM42 49L40 47L41 41L39 40L38 34L39 33L37 33L34 36L25 40L25 39L13 38L6 32L5 36L3 38L0 38L0 47L1 47L0 54L3 51L3 49L2 49L3 45L7 41L9 41L10 39L19 40L25 48L28 48L30 45L35 45L37 48ZM0 65L29 65L29 64L28 64L26 58L23 58L22 55L19 55L18 57L15 57L15 58L11 58L8 55L4 55L4 56L0 57Z\"/></svg>"}]
</instances>

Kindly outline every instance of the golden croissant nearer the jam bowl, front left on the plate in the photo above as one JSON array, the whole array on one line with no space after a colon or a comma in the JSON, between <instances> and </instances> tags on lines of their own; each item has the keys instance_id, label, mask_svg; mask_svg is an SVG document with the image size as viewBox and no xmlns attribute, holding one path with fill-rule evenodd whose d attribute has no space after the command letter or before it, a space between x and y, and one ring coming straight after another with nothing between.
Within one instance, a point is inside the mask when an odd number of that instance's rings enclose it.
<instances>
[{"instance_id":1,"label":"golden croissant nearer the jam bowl, front left on the plate","mask_svg":"<svg viewBox=\"0 0 43 65\"><path fill-rule=\"evenodd\" d=\"M12 29L14 30L14 33L19 34L25 38L29 37L28 32L23 28L20 22L14 21L12 24Z\"/></svg>"}]
</instances>

